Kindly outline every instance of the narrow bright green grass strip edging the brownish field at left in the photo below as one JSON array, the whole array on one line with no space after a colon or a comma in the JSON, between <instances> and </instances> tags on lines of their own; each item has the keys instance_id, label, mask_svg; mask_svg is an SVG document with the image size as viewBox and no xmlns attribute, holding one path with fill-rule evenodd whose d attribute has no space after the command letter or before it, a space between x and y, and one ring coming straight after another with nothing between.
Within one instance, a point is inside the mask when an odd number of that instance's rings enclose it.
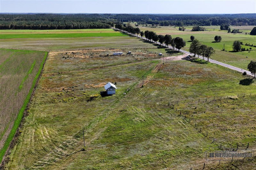
<instances>
[{"instance_id":1,"label":"narrow bright green grass strip edging the brownish field at left","mask_svg":"<svg viewBox=\"0 0 256 170\"><path fill-rule=\"evenodd\" d=\"M48 56L48 52L45 52L44 55L44 59L42 60L40 67L38 69L38 72L36 73L35 78L33 79L33 83L31 85L31 89L28 92L28 95L26 96L26 99L24 100L24 104L22 105L22 107L20 108L20 111L17 115L17 118L15 119L15 122L13 123L13 127L12 130L10 131L10 134L8 135L8 138L6 139L3 148L1 148L0 150L0 168L3 166L3 157L6 154L6 151L8 150L8 148L10 148L10 145L13 141L13 138L16 136L17 134L17 130L20 126L20 123L22 121L22 118L24 116L24 111L26 110L26 108L28 107L28 104L31 100L31 97L33 95L33 92L35 91L36 88L36 84L38 83L38 80L42 74L42 70L44 68L45 65L45 60L47 59Z\"/></svg>"}]
</instances>

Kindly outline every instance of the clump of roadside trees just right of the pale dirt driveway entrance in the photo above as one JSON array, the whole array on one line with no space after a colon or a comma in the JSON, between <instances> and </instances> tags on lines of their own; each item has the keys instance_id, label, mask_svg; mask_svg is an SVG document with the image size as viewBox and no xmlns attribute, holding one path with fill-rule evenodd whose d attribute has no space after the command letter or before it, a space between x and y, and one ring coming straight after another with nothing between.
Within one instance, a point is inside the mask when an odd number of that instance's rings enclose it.
<instances>
[{"instance_id":1,"label":"clump of roadside trees just right of the pale dirt driveway entrance","mask_svg":"<svg viewBox=\"0 0 256 170\"><path fill-rule=\"evenodd\" d=\"M211 46L202 45L198 39L194 39L189 47L189 52L196 55L202 55L203 58L207 57L208 61L211 55L215 52Z\"/></svg>"}]
</instances>

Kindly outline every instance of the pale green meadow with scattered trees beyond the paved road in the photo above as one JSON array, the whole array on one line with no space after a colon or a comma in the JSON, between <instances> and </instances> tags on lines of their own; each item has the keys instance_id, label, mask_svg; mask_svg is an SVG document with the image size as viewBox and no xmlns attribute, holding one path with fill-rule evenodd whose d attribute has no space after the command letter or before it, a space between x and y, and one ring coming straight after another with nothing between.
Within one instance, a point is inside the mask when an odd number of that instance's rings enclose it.
<instances>
[{"instance_id":1,"label":"pale green meadow with scattered trees beyond the paved road","mask_svg":"<svg viewBox=\"0 0 256 170\"><path fill-rule=\"evenodd\" d=\"M157 34L170 34L172 38L177 36L183 38L186 41L186 46L184 50L189 50L191 44L190 36L195 36L201 43L212 46L216 53L212 55L212 59L218 60L220 62L225 62L232 66L241 67L242 69L247 69L247 66L251 60L256 60L256 47L245 46L245 43L250 43L251 45L256 45L256 37L244 34L245 32L250 32L253 26L241 26L241 27L231 27L231 29L239 29L243 31L242 34L228 34L227 31L220 31L219 26L205 27L207 31L191 31L192 27L186 27L186 31L179 31L179 27L140 27L142 31L154 31ZM214 36L221 36L221 42L214 42ZM244 52L232 52L232 45L234 41L243 41L242 48L249 51ZM225 45L225 52L223 50L223 45ZM250 48L252 50L250 51Z\"/></svg>"}]
</instances>

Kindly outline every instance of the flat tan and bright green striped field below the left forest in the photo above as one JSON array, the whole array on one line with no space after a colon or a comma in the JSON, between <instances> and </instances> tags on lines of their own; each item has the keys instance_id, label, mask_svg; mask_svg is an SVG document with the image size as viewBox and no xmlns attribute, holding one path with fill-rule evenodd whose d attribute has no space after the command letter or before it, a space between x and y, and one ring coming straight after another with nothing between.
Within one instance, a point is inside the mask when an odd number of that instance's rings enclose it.
<instances>
[{"instance_id":1,"label":"flat tan and bright green striped field below the left forest","mask_svg":"<svg viewBox=\"0 0 256 170\"><path fill-rule=\"evenodd\" d=\"M50 33L48 33L48 32ZM95 30L47 30L47 31L31 31L29 36L38 38L28 38L28 31L0 31L1 36L16 36L24 38L8 38L1 39L0 48L12 48L21 50L40 50L40 51L57 51L57 50L79 50L85 48L152 48L152 45L138 41L136 38L130 38L120 32L115 32L113 29L95 29ZM7 33L6 33L7 32ZM58 32L58 33L56 33ZM72 33L70 33L72 32ZM100 33L102 32L102 33ZM85 37L81 37L84 34ZM74 37L76 34L78 37ZM87 35L88 34L88 35ZM92 36L92 34L96 36ZM108 36L102 36L107 34ZM61 36L64 36L61 38ZM65 36L70 37L65 37ZM91 36L89 36L91 35ZM110 36L111 35L111 36ZM115 36L117 35L117 36ZM55 38L45 38L46 36L58 36ZM43 38L44 37L44 38Z\"/></svg>"}]
</instances>

